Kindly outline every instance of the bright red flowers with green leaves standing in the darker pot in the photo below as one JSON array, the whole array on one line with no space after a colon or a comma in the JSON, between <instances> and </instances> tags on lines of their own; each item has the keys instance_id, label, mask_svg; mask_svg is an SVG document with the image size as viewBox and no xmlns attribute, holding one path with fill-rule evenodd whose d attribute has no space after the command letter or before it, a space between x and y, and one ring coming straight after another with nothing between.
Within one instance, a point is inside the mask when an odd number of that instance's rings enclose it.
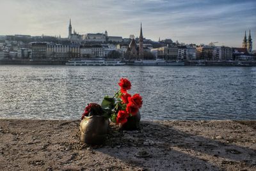
<instances>
[{"instance_id":1,"label":"bright red flowers with green leaves standing in the darker pot","mask_svg":"<svg viewBox=\"0 0 256 171\"><path fill-rule=\"evenodd\" d=\"M127 93L127 90L131 89L132 86L127 78L121 78L118 85L120 85L120 91L113 97L105 96L101 107L104 110L104 115L109 117L112 122L124 124L128 117L138 113L143 101L140 94L131 96Z\"/></svg>"}]
</instances>

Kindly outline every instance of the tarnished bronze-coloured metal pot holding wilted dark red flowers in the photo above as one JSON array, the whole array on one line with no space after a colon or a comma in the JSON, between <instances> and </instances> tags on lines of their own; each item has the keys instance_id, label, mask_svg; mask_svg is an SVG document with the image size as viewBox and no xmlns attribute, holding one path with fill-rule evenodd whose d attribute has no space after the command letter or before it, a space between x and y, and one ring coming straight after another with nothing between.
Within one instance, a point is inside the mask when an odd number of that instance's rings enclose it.
<instances>
[{"instance_id":1,"label":"tarnished bronze-coloured metal pot holding wilted dark red flowers","mask_svg":"<svg viewBox=\"0 0 256 171\"><path fill-rule=\"evenodd\" d=\"M86 144L104 144L109 121L101 115L84 117L80 124L81 141Z\"/></svg>"}]
</instances>

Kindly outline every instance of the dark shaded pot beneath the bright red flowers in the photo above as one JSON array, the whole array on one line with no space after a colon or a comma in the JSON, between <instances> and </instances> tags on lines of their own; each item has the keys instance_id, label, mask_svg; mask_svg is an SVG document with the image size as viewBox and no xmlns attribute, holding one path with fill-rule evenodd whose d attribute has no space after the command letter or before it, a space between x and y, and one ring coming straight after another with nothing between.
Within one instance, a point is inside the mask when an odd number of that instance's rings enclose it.
<instances>
[{"instance_id":1,"label":"dark shaded pot beneath the bright red flowers","mask_svg":"<svg viewBox=\"0 0 256 171\"><path fill-rule=\"evenodd\" d=\"M134 116L128 117L127 122L120 126L122 130L140 130L140 111Z\"/></svg>"}]
</instances>

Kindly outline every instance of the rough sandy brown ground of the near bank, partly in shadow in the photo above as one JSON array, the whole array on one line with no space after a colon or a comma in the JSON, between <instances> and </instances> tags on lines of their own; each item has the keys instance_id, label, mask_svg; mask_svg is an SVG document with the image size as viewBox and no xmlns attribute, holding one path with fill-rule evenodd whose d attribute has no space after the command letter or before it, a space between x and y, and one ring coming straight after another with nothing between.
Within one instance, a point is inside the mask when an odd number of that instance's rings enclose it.
<instances>
[{"instance_id":1,"label":"rough sandy brown ground of the near bank, partly in shadow","mask_svg":"<svg viewBox=\"0 0 256 171\"><path fill-rule=\"evenodd\" d=\"M256 170L256 121L110 124L102 146L82 144L79 123L0 119L0 170Z\"/></svg>"}]
</instances>

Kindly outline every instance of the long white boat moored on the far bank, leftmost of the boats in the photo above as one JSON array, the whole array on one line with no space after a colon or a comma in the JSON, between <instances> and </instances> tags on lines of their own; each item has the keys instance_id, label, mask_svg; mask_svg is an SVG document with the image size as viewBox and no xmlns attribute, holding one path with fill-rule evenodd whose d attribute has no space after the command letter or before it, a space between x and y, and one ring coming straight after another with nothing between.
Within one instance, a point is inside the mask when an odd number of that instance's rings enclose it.
<instances>
[{"instance_id":1,"label":"long white boat moored on the far bank, leftmost of the boats","mask_svg":"<svg viewBox=\"0 0 256 171\"><path fill-rule=\"evenodd\" d=\"M122 66L125 63L115 60L105 60L105 59L74 59L66 63L66 65L71 66Z\"/></svg>"}]
</instances>

